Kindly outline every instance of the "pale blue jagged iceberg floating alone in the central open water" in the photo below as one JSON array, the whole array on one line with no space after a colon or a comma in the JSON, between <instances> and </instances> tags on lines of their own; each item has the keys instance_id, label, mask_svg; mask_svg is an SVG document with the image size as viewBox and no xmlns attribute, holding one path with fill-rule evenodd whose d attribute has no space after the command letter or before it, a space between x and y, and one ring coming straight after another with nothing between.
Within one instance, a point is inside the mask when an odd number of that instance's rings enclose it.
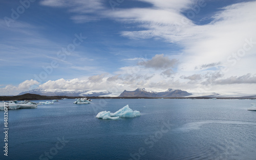
<instances>
[{"instance_id":1,"label":"pale blue jagged iceberg floating alone in the central open water","mask_svg":"<svg viewBox=\"0 0 256 160\"><path fill-rule=\"evenodd\" d=\"M96 118L101 118L101 119L119 119L119 117L123 118L132 118L132 117L137 117L140 116L139 111L133 111L132 109L129 108L129 105L125 105L122 109L118 110L115 113L111 113L110 111L102 111L97 114Z\"/></svg>"}]
</instances>

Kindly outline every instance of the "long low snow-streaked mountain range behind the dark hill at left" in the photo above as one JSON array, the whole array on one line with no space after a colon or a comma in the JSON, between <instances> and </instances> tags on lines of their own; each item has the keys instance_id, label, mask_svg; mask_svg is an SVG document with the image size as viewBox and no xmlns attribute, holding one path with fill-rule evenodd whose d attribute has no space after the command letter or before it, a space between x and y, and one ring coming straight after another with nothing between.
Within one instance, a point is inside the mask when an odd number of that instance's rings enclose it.
<instances>
[{"instance_id":1,"label":"long low snow-streaked mountain range behind the dark hill at left","mask_svg":"<svg viewBox=\"0 0 256 160\"><path fill-rule=\"evenodd\" d=\"M109 91L90 91L90 90L44 90L44 89L34 89L26 92L19 93L18 95L31 93L39 94L45 96L104 96L109 95Z\"/></svg>"}]
</instances>

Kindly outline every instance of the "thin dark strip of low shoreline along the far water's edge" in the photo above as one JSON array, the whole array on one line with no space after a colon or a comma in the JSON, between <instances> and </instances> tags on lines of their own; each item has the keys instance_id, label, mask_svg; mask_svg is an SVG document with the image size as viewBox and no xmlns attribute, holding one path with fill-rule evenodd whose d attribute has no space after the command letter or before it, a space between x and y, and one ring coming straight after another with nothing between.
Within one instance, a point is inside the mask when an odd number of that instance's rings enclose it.
<instances>
[{"instance_id":1,"label":"thin dark strip of low shoreline along the far water's edge","mask_svg":"<svg viewBox=\"0 0 256 160\"><path fill-rule=\"evenodd\" d=\"M75 99L75 98L81 98L84 96L42 96L38 94L30 94L26 93L23 95L17 95L17 96L0 96L0 101L8 101L8 100L52 100L52 99L61 99L61 98L67 98L67 99ZM209 96L199 96L199 97L90 97L90 99L256 99L256 97L252 96L245 96L245 97L209 97Z\"/></svg>"}]
</instances>

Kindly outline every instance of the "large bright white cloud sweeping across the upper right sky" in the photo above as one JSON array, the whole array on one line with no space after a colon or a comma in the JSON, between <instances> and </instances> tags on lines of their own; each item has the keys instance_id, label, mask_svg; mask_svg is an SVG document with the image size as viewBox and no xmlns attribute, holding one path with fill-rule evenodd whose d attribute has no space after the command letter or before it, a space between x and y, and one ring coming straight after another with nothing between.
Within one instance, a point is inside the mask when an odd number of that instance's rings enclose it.
<instances>
[{"instance_id":1,"label":"large bright white cloud sweeping across the upper right sky","mask_svg":"<svg viewBox=\"0 0 256 160\"><path fill-rule=\"evenodd\" d=\"M182 66L183 71L194 71L202 64L218 62L224 65L233 52L243 48L245 39L256 41L256 2L227 6L210 17L213 19L210 23L203 25L197 25L181 14L184 8L193 6L191 1L144 2L152 3L154 7L119 9L107 14L137 25L137 31L121 32L125 37L162 38L170 43L178 43L184 48L179 67L181 69ZM255 48L247 51L246 56L251 57Z\"/></svg>"}]
</instances>

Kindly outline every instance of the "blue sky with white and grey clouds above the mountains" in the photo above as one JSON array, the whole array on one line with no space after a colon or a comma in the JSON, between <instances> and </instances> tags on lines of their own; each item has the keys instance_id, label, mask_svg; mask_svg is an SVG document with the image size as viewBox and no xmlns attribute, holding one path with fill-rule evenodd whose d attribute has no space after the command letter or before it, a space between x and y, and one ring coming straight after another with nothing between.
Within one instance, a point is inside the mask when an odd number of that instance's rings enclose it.
<instances>
[{"instance_id":1,"label":"blue sky with white and grey clouds above the mountains","mask_svg":"<svg viewBox=\"0 0 256 160\"><path fill-rule=\"evenodd\" d=\"M240 0L1 1L0 95L256 95L255 8Z\"/></svg>"}]
</instances>

